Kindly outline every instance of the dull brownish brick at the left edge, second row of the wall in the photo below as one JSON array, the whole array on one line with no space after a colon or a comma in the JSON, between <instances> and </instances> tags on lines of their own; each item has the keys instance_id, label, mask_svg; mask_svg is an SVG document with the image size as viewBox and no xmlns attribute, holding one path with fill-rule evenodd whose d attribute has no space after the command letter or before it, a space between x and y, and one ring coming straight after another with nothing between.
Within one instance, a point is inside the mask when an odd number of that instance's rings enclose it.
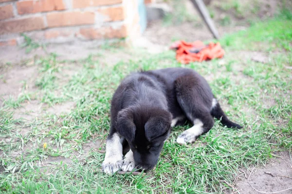
<instances>
[{"instance_id":1,"label":"dull brownish brick at the left edge, second row of the wall","mask_svg":"<svg viewBox=\"0 0 292 194\"><path fill-rule=\"evenodd\" d=\"M43 17L29 17L11 21L0 21L0 34L28 32L45 28Z\"/></svg>"}]
</instances>

